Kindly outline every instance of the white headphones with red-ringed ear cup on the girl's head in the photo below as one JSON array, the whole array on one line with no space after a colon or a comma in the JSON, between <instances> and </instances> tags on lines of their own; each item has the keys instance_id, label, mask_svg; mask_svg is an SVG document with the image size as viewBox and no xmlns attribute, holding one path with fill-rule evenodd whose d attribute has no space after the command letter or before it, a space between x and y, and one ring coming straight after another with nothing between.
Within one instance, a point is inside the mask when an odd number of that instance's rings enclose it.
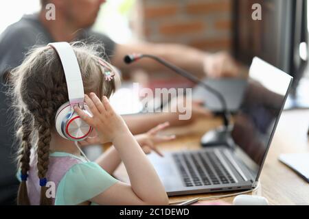
<instances>
[{"instance_id":1,"label":"white headphones with red-ringed ear cup on the girl's head","mask_svg":"<svg viewBox=\"0 0 309 219\"><path fill-rule=\"evenodd\" d=\"M53 42L48 45L60 57L69 94L69 102L61 105L56 113L56 130L60 136L67 140L84 140L91 133L92 127L74 112L73 106L78 105L89 116L92 116L92 114L87 105L84 104L84 86L78 60L69 43Z\"/></svg>"}]
</instances>

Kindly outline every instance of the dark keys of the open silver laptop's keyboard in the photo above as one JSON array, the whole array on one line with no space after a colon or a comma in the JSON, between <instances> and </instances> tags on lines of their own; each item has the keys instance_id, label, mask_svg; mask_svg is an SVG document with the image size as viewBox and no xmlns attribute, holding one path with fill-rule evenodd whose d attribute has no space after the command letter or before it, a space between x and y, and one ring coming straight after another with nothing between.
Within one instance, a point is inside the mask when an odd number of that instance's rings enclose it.
<instances>
[{"instance_id":1,"label":"dark keys of the open silver laptop's keyboard","mask_svg":"<svg viewBox=\"0 0 309 219\"><path fill-rule=\"evenodd\" d=\"M214 151L174 153L172 157L187 187L235 183Z\"/></svg>"}]
</instances>

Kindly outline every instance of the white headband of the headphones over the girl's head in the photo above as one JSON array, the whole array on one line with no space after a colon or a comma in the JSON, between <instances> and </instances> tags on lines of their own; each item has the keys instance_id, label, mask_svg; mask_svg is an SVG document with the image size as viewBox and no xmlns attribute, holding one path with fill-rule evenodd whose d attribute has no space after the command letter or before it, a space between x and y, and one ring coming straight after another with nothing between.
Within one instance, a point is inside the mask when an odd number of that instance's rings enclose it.
<instances>
[{"instance_id":1,"label":"white headband of the headphones over the girl's head","mask_svg":"<svg viewBox=\"0 0 309 219\"><path fill-rule=\"evenodd\" d=\"M67 81L67 92L69 94L70 105L84 103L84 86L82 84L82 74L76 55L67 42L52 42L48 44L55 49L60 57L65 80Z\"/></svg>"}]
</instances>

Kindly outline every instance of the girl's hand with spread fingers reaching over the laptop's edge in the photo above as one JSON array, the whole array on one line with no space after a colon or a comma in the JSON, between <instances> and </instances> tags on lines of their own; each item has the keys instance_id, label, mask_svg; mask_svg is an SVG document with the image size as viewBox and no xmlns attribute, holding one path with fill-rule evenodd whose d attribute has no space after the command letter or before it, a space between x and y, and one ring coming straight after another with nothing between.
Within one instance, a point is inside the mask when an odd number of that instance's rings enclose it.
<instances>
[{"instance_id":1,"label":"girl's hand with spread fingers reaching over the laptop's edge","mask_svg":"<svg viewBox=\"0 0 309 219\"><path fill-rule=\"evenodd\" d=\"M157 149L156 144L172 140L175 136L159 136L159 131L168 127L170 123L162 123L157 127L150 129L146 133L135 136L135 139L141 146L141 149L148 154L150 151L155 151L159 156L163 157L163 154Z\"/></svg>"}]
</instances>

